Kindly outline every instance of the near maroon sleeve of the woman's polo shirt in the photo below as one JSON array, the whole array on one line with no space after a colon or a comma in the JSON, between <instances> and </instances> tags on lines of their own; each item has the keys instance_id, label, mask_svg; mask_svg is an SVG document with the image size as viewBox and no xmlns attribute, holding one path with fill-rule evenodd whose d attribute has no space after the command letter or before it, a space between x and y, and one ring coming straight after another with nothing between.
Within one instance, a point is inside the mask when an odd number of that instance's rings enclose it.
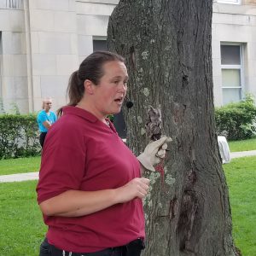
<instances>
[{"instance_id":1,"label":"near maroon sleeve of the woman's polo shirt","mask_svg":"<svg viewBox=\"0 0 256 256\"><path fill-rule=\"evenodd\" d=\"M58 125L48 132L39 172L38 203L79 189L84 177L85 153L83 136L74 128Z\"/></svg>"}]
</instances>

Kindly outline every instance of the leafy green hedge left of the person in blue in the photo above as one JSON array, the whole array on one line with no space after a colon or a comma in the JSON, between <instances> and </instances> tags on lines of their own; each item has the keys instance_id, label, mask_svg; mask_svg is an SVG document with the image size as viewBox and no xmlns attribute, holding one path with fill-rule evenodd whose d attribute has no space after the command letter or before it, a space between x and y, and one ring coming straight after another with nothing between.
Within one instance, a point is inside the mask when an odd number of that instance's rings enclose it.
<instances>
[{"instance_id":1,"label":"leafy green hedge left of the person in blue","mask_svg":"<svg viewBox=\"0 0 256 256\"><path fill-rule=\"evenodd\" d=\"M38 155L38 136L35 114L0 114L0 160Z\"/></svg>"}]
</instances>

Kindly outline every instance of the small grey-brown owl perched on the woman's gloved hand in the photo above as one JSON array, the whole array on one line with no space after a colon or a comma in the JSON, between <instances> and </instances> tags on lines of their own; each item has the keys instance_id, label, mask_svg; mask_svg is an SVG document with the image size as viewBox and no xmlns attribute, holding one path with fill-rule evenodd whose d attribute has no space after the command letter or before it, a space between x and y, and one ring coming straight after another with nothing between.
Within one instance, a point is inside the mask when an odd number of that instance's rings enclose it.
<instances>
[{"instance_id":1,"label":"small grey-brown owl perched on the woman's gloved hand","mask_svg":"<svg viewBox=\"0 0 256 256\"><path fill-rule=\"evenodd\" d=\"M160 109L156 109L152 106L149 106L148 119L145 126L148 137L151 140L156 141L160 139L162 135L162 119Z\"/></svg>"}]
</instances>

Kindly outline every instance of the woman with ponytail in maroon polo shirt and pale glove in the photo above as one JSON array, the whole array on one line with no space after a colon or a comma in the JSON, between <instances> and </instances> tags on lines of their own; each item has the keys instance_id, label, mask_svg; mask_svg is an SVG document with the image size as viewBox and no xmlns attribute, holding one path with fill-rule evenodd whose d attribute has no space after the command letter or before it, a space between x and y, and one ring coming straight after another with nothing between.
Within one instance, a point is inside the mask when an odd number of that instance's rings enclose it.
<instances>
[{"instance_id":1,"label":"woman with ponytail in maroon polo shirt and pale glove","mask_svg":"<svg viewBox=\"0 0 256 256\"><path fill-rule=\"evenodd\" d=\"M110 52L89 55L69 80L70 102L42 155L38 204L49 230L41 256L137 256L143 249L149 180L107 119L119 113L127 80L124 59ZM164 156L165 142L145 148L139 160L146 168Z\"/></svg>"}]
</instances>

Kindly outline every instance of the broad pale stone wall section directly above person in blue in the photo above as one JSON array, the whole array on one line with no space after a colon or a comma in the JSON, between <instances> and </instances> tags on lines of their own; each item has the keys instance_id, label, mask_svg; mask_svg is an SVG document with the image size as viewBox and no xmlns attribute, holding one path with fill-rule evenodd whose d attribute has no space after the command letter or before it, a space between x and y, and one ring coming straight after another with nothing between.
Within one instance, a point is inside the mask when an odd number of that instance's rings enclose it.
<instances>
[{"instance_id":1,"label":"broad pale stone wall section directly above person in blue","mask_svg":"<svg viewBox=\"0 0 256 256\"><path fill-rule=\"evenodd\" d=\"M66 104L68 77L79 65L75 1L28 1L33 109L47 96L56 109Z\"/></svg>"}]
</instances>

